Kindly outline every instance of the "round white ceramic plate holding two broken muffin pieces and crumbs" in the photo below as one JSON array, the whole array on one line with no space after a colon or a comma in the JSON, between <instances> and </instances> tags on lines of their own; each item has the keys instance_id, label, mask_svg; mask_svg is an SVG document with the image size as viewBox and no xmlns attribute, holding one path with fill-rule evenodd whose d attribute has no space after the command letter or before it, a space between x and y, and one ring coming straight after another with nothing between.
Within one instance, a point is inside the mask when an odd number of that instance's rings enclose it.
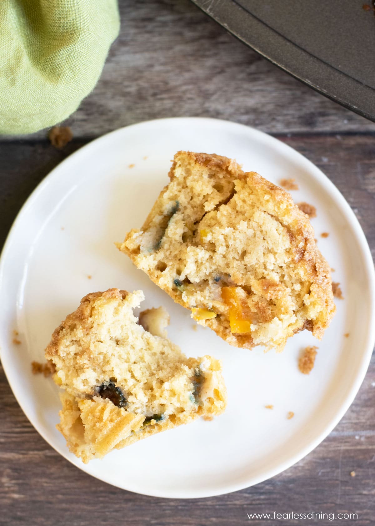
<instances>
[{"instance_id":1,"label":"round white ceramic plate holding two broken muffin pieces and crumbs","mask_svg":"<svg viewBox=\"0 0 375 526\"><path fill-rule=\"evenodd\" d=\"M139 227L167 183L177 150L234 157L278 183L295 178L296 202L317 207L318 245L344 300L321 342L310 332L281 354L236 349L159 290L115 248ZM323 239L321 232L329 232ZM88 279L88 276L92 276ZM143 307L164 305L169 336L190 356L224 363L228 408L212 422L160 433L85 466L55 429L58 388L33 376L55 327L88 292L143 289ZM37 431L66 459L98 479L158 497L208 497L274 476L315 448L338 423L367 370L374 341L374 272L349 205L321 171L292 148L255 129L222 120L145 122L101 137L57 166L19 213L0 264L1 359L14 394ZM14 345L13 329L21 345ZM349 337L344 337L349 333ZM298 371L301 348L318 345L309 376ZM273 410L265 406L273 404ZM288 411L295 413L288 420Z\"/></svg>"}]
</instances>

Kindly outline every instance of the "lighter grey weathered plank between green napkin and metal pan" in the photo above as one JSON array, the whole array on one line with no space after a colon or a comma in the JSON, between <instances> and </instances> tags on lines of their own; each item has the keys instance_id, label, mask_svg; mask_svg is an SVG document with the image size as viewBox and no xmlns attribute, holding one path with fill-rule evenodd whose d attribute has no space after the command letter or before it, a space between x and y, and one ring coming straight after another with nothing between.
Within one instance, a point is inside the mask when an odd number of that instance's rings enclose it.
<instances>
[{"instance_id":1,"label":"lighter grey weathered plank between green napkin and metal pan","mask_svg":"<svg viewBox=\"0 0 375 526\"><path fill-rule=\"evenodd\" d=\"M270 133L375 131L375 123L282 72L189 0L120 0L119 7L121 31L102 77L68 120L76 137L174 116L230 119Z\"/></svg>"}]
</instances>

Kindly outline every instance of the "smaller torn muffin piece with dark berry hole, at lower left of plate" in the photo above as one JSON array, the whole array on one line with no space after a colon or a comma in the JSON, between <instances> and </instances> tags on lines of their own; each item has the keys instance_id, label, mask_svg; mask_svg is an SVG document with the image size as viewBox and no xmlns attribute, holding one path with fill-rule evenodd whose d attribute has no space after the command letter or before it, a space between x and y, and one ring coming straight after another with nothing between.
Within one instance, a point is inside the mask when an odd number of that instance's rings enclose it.
<instances>
[{"instance_id":1,"label":"smaller torn muffin piece with dark berry hole, at lower left of plate","mask_svg":"<svg viewBox=\"0 0 375 526\"><path fill-rule=\"evenodd\" d=\"M164 309L140 316L154 334L145 330L133 313L143 299L142 291L89 294L46 348L65 390L58 429L84 461L225 408L220 363L186 358L166 338Z\"/></svg>"}]
</instances>

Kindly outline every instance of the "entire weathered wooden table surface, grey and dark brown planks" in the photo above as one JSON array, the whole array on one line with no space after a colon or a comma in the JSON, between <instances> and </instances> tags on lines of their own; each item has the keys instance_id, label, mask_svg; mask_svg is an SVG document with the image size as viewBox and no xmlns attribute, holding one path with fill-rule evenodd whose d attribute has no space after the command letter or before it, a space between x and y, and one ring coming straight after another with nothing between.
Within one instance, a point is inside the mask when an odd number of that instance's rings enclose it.
<instances>
[{"instance_id":1,"label":"entire weathered wooden table surface, grey and dark brown planks","mask_svg":"<svg viewBox=\"0 0 375 526\"><path fill-rule=\"evenodd\" d=\"M88 141L141 120L209 116L267 131L317 164L346 197L375 249L374 123L283 73L188 0L119 4L120 36L103 75L67 121L72 143L56 150L45 131L0 139L0 246L39 181ZM0 524L332 523L247 516L273 511L351 512L358 520L343 523L375 524L374 373L373 359L336 429L292 468L222 497L166 500L114 488L60 457L26 419L0 368Z\"/></svg>"}]
</instances>

